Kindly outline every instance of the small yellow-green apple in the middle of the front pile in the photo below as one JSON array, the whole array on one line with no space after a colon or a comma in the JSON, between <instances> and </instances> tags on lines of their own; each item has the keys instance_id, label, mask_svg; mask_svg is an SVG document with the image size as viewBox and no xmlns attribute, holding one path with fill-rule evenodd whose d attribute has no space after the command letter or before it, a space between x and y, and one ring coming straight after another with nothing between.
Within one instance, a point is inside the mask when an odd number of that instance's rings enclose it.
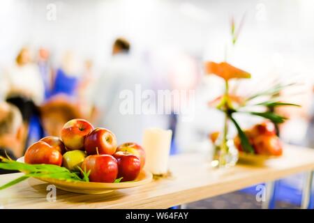
<instances>
[{"instance_id":1,"label":"small yellow-green apple in the middle of the front pile","mask_svg":"<svg viewBox=\"0 0 314 223\"><path fill-rule=\"evenodd\" d=\"M86 156L84 151L68 151L63 154L63 167L75 171L77 167L80 167Z\"/></svg>"}]
</instances>

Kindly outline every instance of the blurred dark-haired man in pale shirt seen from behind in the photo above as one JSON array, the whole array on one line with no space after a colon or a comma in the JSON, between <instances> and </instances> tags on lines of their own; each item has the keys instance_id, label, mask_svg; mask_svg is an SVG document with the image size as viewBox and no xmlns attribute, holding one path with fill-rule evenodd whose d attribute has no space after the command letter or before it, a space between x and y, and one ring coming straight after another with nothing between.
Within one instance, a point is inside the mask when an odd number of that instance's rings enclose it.
<instances>
[{"instance_id":1,"label":"blurred dark-haired man in pale shirt seen from behind","mask_svg":"<svg viewBox=\"0 0 314 223\"><path fill-rule=\"evenodd\" d=\"M130 54L128 40L115 40L112 46L112 60L96 82L92 101L95 106L95 125L112 130L119 144L142 141L146 125L144 114L121 114L119 106L123 99L119 98L119 95L124 90L134 93L135 84L140 84L143 90L150 89L147 87L149 84L143 70L140 61Z\"/></svg>"}]
</instances>

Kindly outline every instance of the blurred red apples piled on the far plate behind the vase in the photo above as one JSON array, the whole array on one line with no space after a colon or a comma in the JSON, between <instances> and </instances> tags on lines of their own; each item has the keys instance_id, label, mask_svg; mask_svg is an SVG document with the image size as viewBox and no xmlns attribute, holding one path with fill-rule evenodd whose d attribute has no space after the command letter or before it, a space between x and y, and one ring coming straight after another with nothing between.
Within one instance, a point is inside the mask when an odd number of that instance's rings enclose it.
<instances>
[{"instance_id":1,"label":"blurred red apples piled on the far plate behind the vase","mask_svg":"<svg viewBox=\"0 0 314 223\"><path fill-rule=\"evenodd\" d=\"M246 134L246 137L248 137L251 146L254 148L255 154L282 155L283 146L276 135L274 123L265 121L254 125L253 128L246 130L244 133ZM244 151L239 136L234 138L234 146L236 146L239 151Z\"/></svg>"}]
</instances>

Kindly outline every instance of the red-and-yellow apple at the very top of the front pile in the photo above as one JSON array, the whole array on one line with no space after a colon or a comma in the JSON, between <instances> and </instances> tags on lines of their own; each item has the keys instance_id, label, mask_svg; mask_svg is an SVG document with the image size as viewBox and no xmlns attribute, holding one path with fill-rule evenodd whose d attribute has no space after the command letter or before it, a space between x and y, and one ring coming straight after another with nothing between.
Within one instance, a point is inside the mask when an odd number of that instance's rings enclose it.
<instances>
[{"instance_id":1,"label":"red-and-yellow apple at the very top of the front pile","mask_svg":"<svg viewBox=\"0 0 314 223\"><path fill-rule=\"evenodd\" d=\"M93 125L84 119L72 119L61 130L63 144L70 151L84 150L84 139L93 129Z\"/></svg>"}]
</instances>

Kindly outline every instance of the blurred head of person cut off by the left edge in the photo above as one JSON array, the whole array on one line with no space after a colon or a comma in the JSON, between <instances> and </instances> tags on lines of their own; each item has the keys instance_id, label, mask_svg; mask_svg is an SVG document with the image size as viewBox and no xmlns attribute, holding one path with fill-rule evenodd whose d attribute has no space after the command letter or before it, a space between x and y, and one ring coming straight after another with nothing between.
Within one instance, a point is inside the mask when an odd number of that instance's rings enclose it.
<instances>
[{"instance_id":1,"label":"blurred head of person cut off by the left edge","mask_svg":"<svg viewBox=\"0 0 314 223\"><path fill-rule=\"evenodd\" d=\"M22 115L14 105L0 102L0 155L16 160L22 153ZM12 172L0 169L0 174Z\"/></svg>"}]
</instances>

